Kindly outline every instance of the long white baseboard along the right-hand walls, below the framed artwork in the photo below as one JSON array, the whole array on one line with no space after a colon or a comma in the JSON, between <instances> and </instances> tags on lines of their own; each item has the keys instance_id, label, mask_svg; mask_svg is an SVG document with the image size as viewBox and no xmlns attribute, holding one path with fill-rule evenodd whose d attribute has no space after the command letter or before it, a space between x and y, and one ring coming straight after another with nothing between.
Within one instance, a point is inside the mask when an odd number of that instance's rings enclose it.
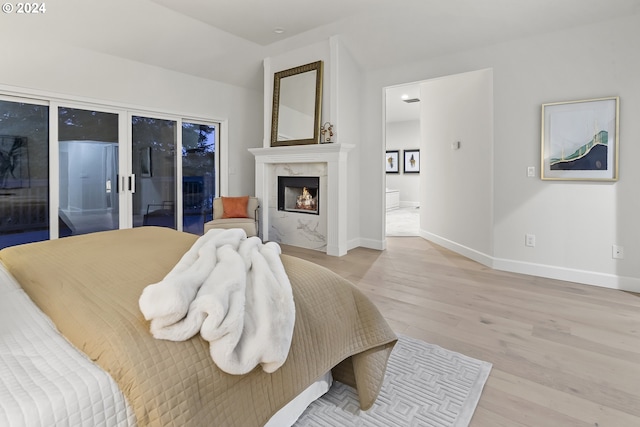
<instances>
[{"instance_id":1,"label":"long white baseboard along the right-hand walls, below the framed artwork","mask_svg":"<svg viewBox=\"0 0 640 427\"><path fill-rule=\"evenodd\" d=\"M420 236L496 270L640 293L640 279L635 277L495 258L424 230L420 230Z\"/></svg>"}]
</instances>

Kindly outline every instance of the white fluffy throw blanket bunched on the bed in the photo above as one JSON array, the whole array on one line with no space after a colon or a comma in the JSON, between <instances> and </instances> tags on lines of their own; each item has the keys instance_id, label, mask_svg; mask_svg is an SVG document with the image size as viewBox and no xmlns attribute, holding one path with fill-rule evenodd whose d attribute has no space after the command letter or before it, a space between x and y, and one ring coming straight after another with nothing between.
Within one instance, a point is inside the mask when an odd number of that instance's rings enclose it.
<instances>
[{"instance_id":1,"label":"white fluffy throw blanket bunched on the bed","mask_svg":"<svg viewBox=\"0 0 640 427\"><path fill-rule=\"evenodd\" d=\"M287 359L295 306L280 246L241 229L213 229L140 296L155 338L184 341L200 332L220 369L274 372Z\"/></svg>"}]
</instances>

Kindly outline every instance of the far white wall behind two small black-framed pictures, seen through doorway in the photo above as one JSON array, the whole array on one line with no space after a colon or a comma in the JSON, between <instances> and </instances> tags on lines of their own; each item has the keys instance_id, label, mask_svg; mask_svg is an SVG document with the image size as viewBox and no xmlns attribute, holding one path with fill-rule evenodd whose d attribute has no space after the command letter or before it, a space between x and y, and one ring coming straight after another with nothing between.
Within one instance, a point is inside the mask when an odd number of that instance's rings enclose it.
<instances>
[{"instance_id":1,"label":"far white wall behind two small black-framed pictures, seen through doorway","mask_svg":"<svg viewBox=\"0 0 640 427\"><path fill-rule=\"evenodd\" d=\"M420 173L403 173L403 150L420 148L420 120L405 120L401 122L387 122L386 128L387 150L398 150L400 156L400 172L386 174L386 187L400 191L400 206L420 206ZM424 166L424 159L421 160ZM429 203L427 200L425 203Z\"/></svg>"}]
</instances>

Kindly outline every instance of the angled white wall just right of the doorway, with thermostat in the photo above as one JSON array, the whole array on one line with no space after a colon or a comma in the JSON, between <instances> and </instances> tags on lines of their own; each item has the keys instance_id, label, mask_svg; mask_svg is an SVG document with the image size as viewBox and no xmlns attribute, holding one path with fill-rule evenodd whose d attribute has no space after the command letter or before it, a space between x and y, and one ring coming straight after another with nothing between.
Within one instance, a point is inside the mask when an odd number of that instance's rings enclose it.
<instances>
[{"instance_id":1,"label":"angled white wall just right of the doorway, with thermostat","mask_svg":"<svg viewBox=\"0 0 640 427\"><path fill-rule=\"evenodd\" d=\"M493 228L493 73L429 80L420 85L420 99L421 234L486 262Z\"/></svg>"}]
</instances>

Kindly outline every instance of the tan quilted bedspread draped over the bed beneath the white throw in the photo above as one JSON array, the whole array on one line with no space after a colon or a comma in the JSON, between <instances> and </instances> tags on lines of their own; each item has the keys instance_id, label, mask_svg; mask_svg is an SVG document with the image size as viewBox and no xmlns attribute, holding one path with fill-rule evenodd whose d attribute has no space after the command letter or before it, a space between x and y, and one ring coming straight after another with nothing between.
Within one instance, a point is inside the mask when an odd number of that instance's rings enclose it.
<instances>
[{"instance_id":1,"label":"tan quilted bedspread draped over the bed beneath the white throw","mask_svg":"<svg viewBox=\"0 0 640 427\"><path fill-rule=\"evenodd\" d=\"M6 248L0 260L60 332L109 372L142 426L261 426L334 369L374 402L396 336L360 291L333 272L282 255L296 304L286 363L275 373L220 371L199 335L154 339L138 308L197 236L142 227ZM351 357L350 357L351 356Z\"/></svg>"}]
</instances>

